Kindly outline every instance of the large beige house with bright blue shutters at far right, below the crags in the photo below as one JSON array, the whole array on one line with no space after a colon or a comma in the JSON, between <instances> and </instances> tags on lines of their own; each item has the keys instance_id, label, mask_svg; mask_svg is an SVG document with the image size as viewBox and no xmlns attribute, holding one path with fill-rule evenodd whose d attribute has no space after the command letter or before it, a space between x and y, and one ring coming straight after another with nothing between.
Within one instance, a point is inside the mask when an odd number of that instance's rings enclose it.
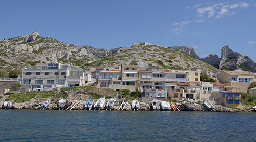
<instances>
[{"instance_id":1,"label":"large beige house with bright blue shutters at far right, below the crags","mask_svg":"<svg viewBox=\"0 0 256 142\"><path fill-rule=\"evenodd\" d=\"M217 79L220 83L234 88L240 88L239 92L246 93L250 82L254 79L254 74L248 71L221 71L217 75Z\"/></svg>"}]
</instances>

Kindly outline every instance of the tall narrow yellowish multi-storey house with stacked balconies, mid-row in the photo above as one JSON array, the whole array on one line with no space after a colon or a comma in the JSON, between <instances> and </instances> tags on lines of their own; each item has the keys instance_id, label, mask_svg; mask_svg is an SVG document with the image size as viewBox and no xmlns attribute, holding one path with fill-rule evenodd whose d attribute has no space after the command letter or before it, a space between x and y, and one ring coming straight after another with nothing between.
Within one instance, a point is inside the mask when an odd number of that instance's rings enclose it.
<instances>
[{"instance_id":1,"label":"tall narrow yellowish multi-storey house with stacked balconies, mid-row","mask_svg":"<svg viewBox=\"0 0 256 142\"><path fill-rule=\"evenodd\" d=\"M130 91L138 91L139 89L139 66L138 65L122 65L122 89Z\"/></svg>"}]
</instances>

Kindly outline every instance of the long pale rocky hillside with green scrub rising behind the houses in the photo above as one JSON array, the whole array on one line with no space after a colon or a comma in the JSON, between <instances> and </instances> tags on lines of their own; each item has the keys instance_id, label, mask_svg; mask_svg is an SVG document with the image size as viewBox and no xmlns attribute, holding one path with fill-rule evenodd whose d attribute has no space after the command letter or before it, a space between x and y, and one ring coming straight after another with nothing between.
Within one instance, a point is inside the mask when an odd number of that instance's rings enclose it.
<instances>
[{"instance_id":1,"label":"long pale rocky hillside with green scrub rising behind the houses","mask_svg":"<svg viewBox=\"0 0 256 142\"><path fill-rule=\"evenodd\" d=\"M190 50L190 52L188 52ZM89 67L117 67L123 64L144 62L149 67L164 69L204 68L217 69L196 58L195 50L177 50L158 45L135 45L113 49L99 49L60 42L42 37L37 32L0 41L0 69L22 69L36 63L72 63L83 69ZM185 52L188 52L189 55ZM195 54L194 54L195 53ZM194 56L196 58L194 58Z\"/></svg>"}]
</instances>

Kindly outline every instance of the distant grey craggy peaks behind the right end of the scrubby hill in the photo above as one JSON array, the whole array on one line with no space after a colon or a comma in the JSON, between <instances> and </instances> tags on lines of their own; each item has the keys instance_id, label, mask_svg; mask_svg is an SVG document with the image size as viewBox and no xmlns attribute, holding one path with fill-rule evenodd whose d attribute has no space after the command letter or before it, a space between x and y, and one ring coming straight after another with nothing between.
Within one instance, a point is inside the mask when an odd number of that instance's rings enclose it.
<instances>
[{"instance_id":1,"label":"distant grey craggy peaks behind the right end of the scrubby hill","mask_svg":"<svg viewBox=\"0 0 256 142\"><path fill-rule=\"evenodd\" d=\"M212 66L224 69L224 70L253 70L256 68L256 62L250 59L248 56L243 56L240 53L234 52L228 45L222 47L221 58L217 55L210 54L205 58L200 58L197 56L196 51L192 47L188 46L176 46L169 47L170 49L181 50L196 59L207 62Z\"/></svg>"}]
</instances>

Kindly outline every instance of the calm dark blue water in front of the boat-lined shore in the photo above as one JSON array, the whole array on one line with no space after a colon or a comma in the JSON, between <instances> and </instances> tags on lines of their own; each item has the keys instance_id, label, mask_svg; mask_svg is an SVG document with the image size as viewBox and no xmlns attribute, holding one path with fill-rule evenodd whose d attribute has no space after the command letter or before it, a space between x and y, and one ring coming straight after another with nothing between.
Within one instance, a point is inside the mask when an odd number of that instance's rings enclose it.
<instances>
[{"instance_id":1,"label":"calm dark blue water in front of the boat-lined shore","mask_svg":"<svg viewBox=\"0 0 256 142\"><path fill-rule=\"evenodd\" d=\"M0 141L256 141L256 113L0 110Z\"/></svg>"}]
</instances>

